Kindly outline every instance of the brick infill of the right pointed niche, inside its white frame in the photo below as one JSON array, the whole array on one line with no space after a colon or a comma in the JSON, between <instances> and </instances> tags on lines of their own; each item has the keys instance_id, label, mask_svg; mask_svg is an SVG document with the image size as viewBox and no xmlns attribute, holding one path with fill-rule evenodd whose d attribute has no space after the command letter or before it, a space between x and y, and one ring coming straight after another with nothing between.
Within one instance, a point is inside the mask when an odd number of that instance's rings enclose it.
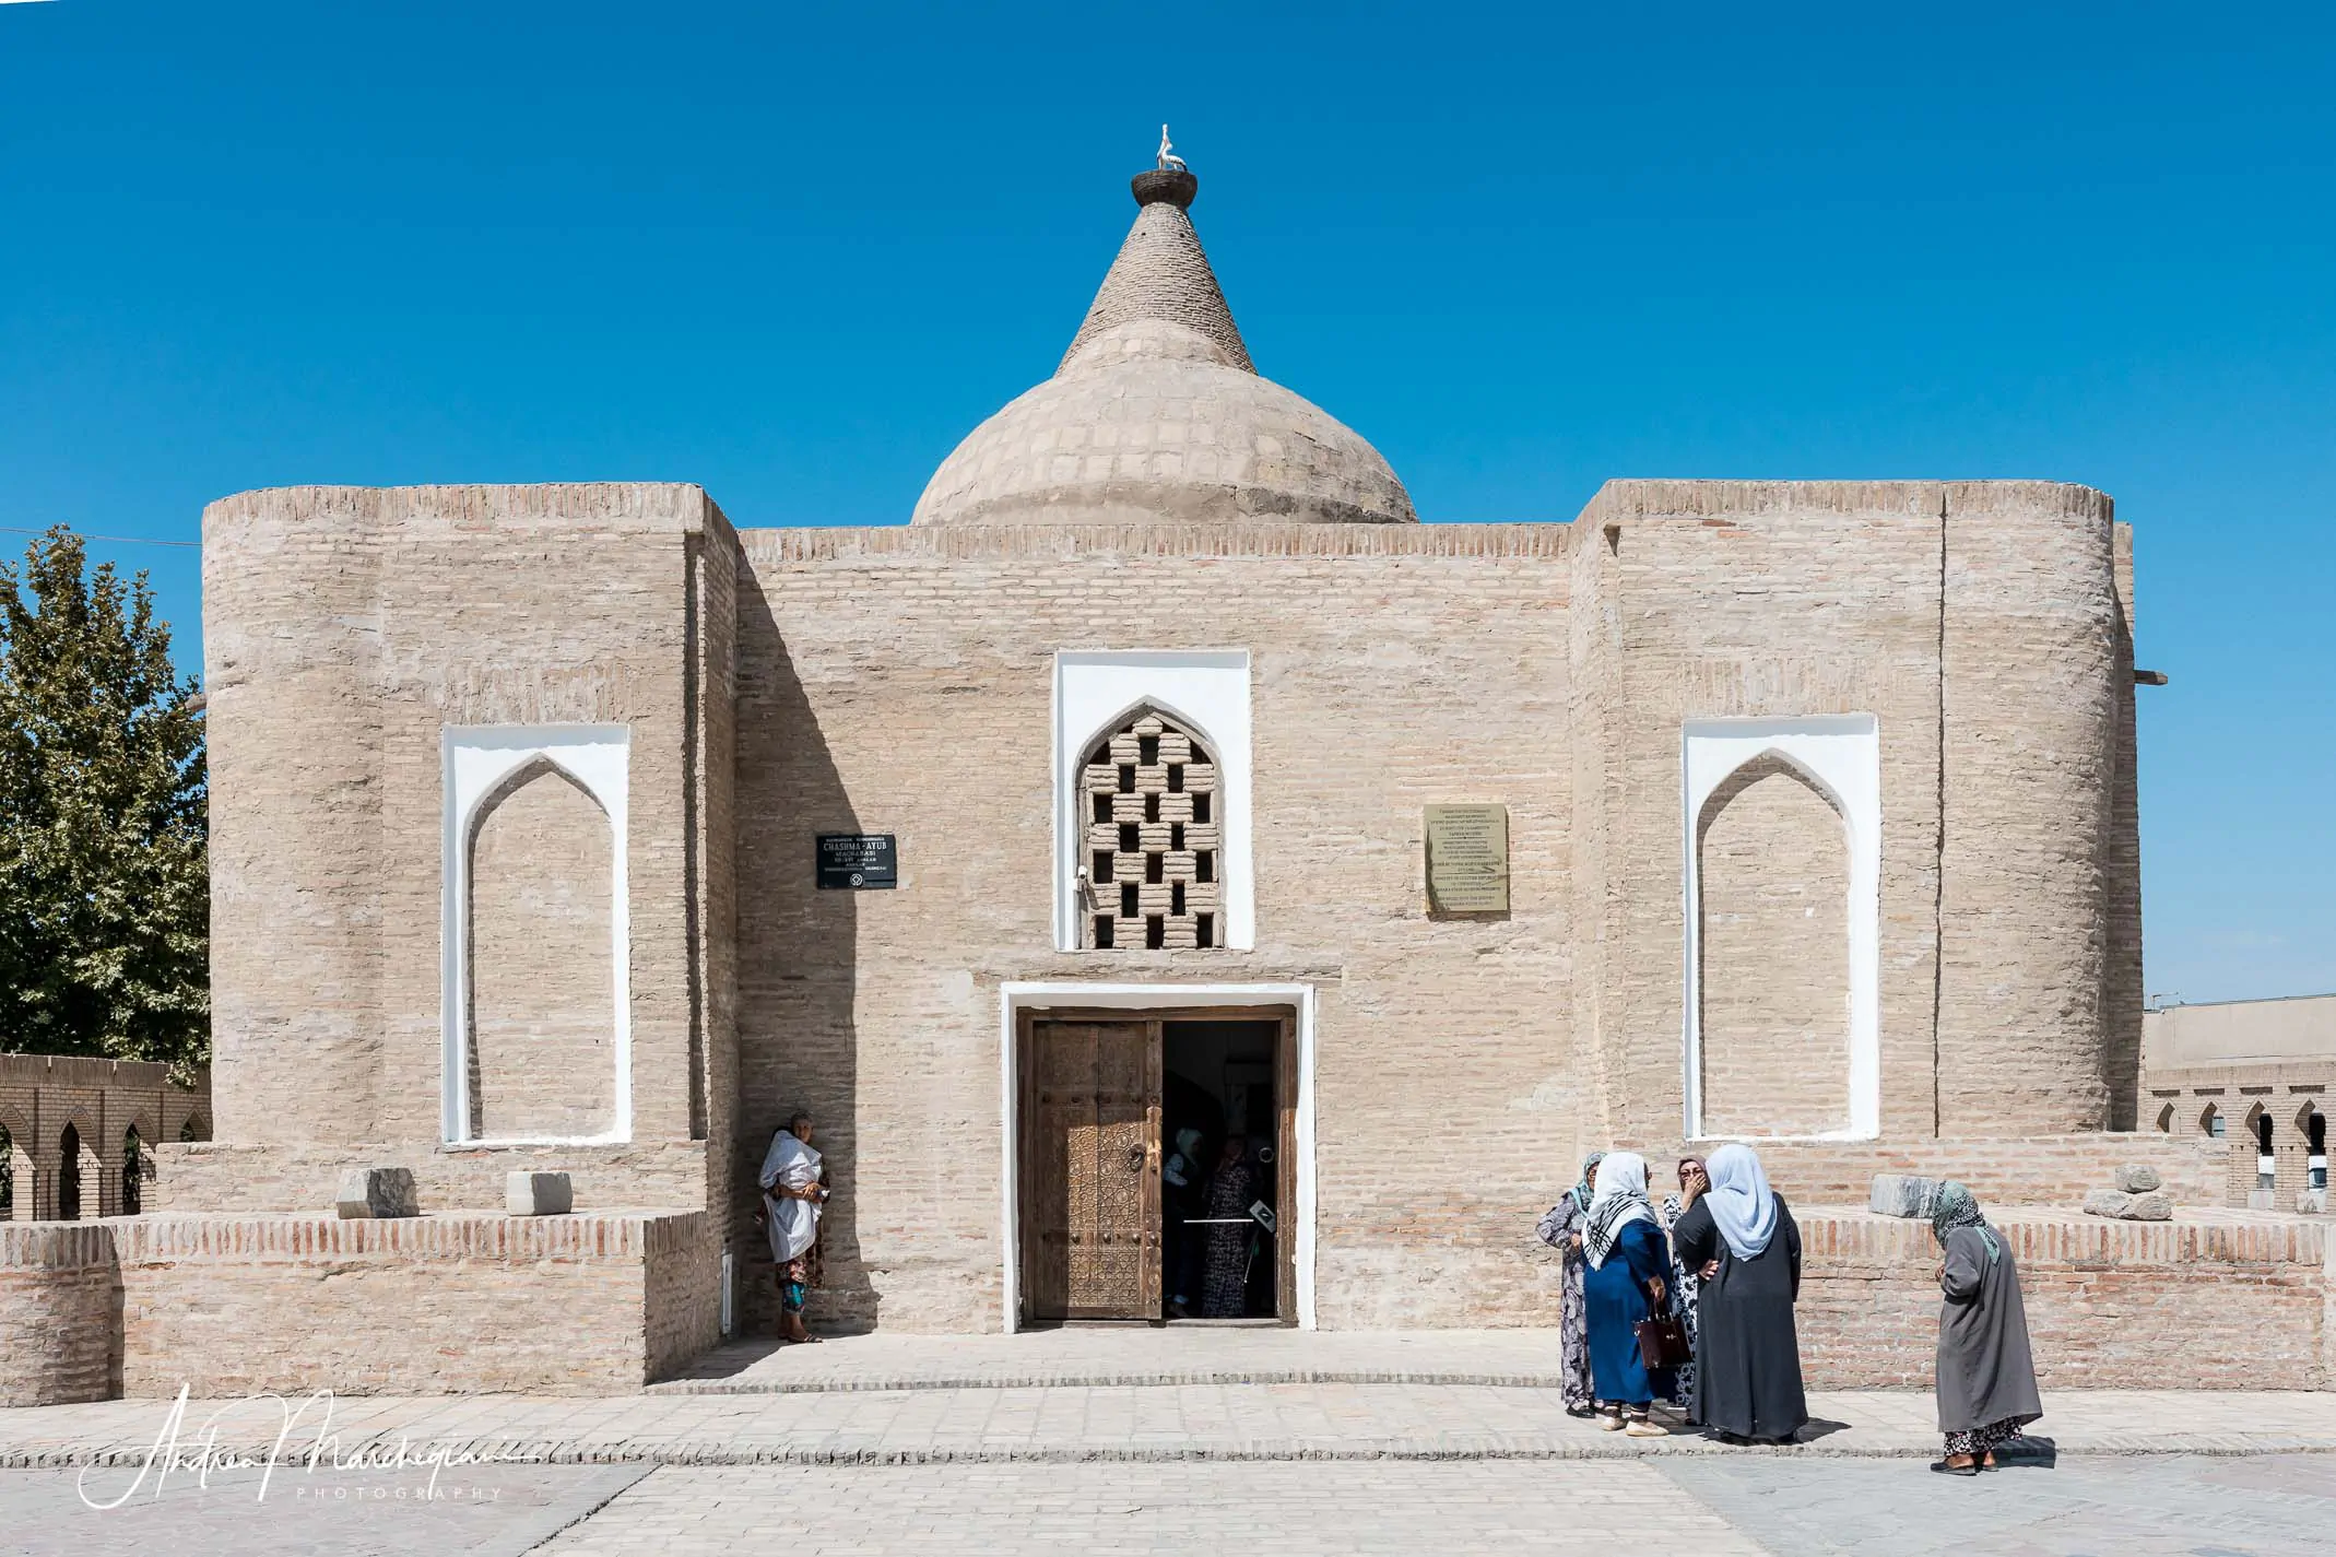
<instances>
[{"instance_id":1,"label":"brick infill of the right pointed niche, inside its white frame","mask_svg":"<svg viewBox=\"0 0 2336 1557\"><path fill-rule=\"evenodd\" d=\"M1696 817L1703 1130L1850 1127L1850 850L1834 796L1780 754Z\"/></svg>"}]
</instances>

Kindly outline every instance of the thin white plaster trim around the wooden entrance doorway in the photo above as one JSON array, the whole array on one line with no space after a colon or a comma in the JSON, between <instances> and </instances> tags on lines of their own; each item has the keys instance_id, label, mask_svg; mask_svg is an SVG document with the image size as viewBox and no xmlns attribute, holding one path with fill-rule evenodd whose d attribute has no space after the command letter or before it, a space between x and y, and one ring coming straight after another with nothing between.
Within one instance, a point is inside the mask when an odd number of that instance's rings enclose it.
<instances>
[{"instance_id":1,"label":"thin white plaster trim around the wooden entrance doorway","mask_svg":"<svg viewBox=\"0 0 2336 1557\"><path fill-rule=\"evenodd\" d=\"M1315 1328L1315 992L1313 985L1121 985L1121 983L1004 983L997 987L997 1102L1000 1134L1000 1237L1004 1249L1007 1335L1021 1328L1021 1151L1016 1085L1016 1029L1023 1011L1058 1006L1105 1006L1112 1011L1173 1011L1177 1006L1296 1006L1299 1013L1299 1328Z\"/></svg>"}]
</instances>

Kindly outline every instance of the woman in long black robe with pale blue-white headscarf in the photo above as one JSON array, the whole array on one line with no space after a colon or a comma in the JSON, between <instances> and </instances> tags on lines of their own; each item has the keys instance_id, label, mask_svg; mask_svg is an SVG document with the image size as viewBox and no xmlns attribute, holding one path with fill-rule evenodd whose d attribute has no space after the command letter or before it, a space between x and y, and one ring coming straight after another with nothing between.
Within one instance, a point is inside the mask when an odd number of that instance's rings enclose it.
<instances>
[{"instance_id":1,"label":"woman in long black robe with pale blue-white headscarf","mask_svg":"<svg viewBox=\"0 0 2336 1557\"><path fill-rule=\"evenodd\" d=\"M1696 1422L1724 1443L1792 1443L1808 1424L1801 1389L1801 1228L1750 1146L1705 1162L1712 1188L1670 1230L1696 1291Z\"/></svg>"}]
</instances>

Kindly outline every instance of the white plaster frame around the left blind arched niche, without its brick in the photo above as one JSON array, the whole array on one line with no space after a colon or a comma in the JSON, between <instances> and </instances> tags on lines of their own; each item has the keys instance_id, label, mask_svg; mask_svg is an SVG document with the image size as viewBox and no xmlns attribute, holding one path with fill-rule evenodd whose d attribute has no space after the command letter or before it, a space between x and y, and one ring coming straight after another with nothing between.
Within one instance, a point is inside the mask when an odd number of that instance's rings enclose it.
<instances>
[{"instance_id":1,"label":"white plaster frame around the left blind arched niche, without its brick","mask_svg":"<svg viewBox=\"0 0 2336 1557\"><path fill-rule=\"evenodd\" d=\"M626 896L626 805L633 731L624 724L449 724L444 761L444 833L439 838L439 1134L449 1146L607 1146L633 1139L633 992L631 899ZM470 829L479 803L535 759L572 777L600 803L610 826L610 962L614 964L617 1106L607 1134L474 1137L470 1134Z\"/></svg>"}]
</instances>

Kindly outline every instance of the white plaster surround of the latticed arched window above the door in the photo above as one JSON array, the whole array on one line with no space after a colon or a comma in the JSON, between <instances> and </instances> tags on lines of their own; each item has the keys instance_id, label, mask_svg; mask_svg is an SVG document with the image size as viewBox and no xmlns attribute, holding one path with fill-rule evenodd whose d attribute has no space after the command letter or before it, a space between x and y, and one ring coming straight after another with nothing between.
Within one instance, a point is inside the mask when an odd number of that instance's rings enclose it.
<instances>
[{"instance_id":1,"label":"white plaster surround of the latticed arched window above the door","mask_svg":"<svg viewBox=\"0 0 2336 1557\"><path fill-rule=\"evenodd\" d=\"M1086 752L1154 707L1217 759L1222 808L1219 945L1257 945L1250 859L1250 651L1247 649L1063 649L1054 656L1054 945L1075 952L1086 924L1079 866L1086 822L1079 782Z\"/></svg>"}]
</instances>

